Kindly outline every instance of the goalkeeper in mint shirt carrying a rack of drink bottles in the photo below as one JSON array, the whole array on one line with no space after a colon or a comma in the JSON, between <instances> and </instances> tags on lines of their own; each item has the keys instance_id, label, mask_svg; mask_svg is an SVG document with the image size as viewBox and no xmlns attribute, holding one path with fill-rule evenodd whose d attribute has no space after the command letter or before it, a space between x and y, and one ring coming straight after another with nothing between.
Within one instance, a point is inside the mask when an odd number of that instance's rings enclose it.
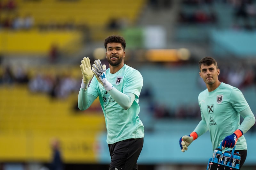
<instances>
[{"instance_id":1,"label":"goalkeeper in mint shirt carrying a rack of drink bottles","mask_svg":"<svg viewBox=\"0 0 256 170\"><path fill-rule=\"evenodd\" d=\"M200 60L199 69L199 75L207 87L198 96L202 120L190 135L180 138L181 151L187 151L197 137L209 130L213 150L221 142L223 150L236 145L235 152L241 154L241 168L247 156L243 134L254 125L255 116L239 89L218 80L220 69L212 57ZM244 118L241 125L240 115Z\"/></svg>"}]
</instances>

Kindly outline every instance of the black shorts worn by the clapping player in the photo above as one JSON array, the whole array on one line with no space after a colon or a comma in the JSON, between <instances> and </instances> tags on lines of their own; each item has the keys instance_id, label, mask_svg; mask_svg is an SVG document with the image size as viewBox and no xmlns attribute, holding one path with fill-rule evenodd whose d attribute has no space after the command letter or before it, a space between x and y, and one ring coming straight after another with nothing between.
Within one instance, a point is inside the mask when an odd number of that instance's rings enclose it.
<instances>
[{"instance_id":1,"label":"black shorts worn by the clapping player","mask_svg":"<svg viewBox=\"0 0 256 170\"><path fill-rule=\"evenodd\" d=\"M143 147L144 138L127 139L108 144L111 163L109 170L138 170L137 160Z\"/></svg>"}]
</instances>

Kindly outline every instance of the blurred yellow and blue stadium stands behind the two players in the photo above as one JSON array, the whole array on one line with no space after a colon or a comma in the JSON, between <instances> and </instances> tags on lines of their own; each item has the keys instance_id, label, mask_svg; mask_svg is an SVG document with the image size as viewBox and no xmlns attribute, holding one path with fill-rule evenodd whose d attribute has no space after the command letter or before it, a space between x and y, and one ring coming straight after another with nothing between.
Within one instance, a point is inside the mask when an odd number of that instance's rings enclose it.
<instances>
[{"instance_id":1,"label":"blurred yellow and blue stadium stands behind the two players","mask_svg":"<svg viewBox=\"0 0 256 170\"><path fill-rule=\"evenodd\" d=\"M124 63L144 79L140 170L206 169L208 132L185 153L179 146L200 121L205 56L256 113L254 0L0 0L0 170L108 169L99 100L80 111L77 96L82 58L107 62L112 34L124 36ZM244 136L243 169L255 170L256 125Z\"/></svg>"}]
</instances>

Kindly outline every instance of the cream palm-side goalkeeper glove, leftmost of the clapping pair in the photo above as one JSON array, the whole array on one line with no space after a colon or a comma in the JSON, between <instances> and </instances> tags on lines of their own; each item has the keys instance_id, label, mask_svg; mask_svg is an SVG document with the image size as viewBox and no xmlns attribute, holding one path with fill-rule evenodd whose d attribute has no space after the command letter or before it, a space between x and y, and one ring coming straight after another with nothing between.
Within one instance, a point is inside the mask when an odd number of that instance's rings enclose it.
<instances>
[{"instance_id":1,"label":"cream palm-side goalkeeper glove, leftmost of the clapping pair","mask_svg":"<svg viewBox=\"0 0 256 170\"><path fill-rule=\"evenodd\" d=\"M83 60L81 61L81 71L83 74L83 82L85 84L85 89L88 87L88 84L90 82L90 80L93 77L93 72L91 70L91 63L90 63L90 58L89 57L84 57ZM81 87L84 85L81 85Z\"/></svg>"}]
</instances>

